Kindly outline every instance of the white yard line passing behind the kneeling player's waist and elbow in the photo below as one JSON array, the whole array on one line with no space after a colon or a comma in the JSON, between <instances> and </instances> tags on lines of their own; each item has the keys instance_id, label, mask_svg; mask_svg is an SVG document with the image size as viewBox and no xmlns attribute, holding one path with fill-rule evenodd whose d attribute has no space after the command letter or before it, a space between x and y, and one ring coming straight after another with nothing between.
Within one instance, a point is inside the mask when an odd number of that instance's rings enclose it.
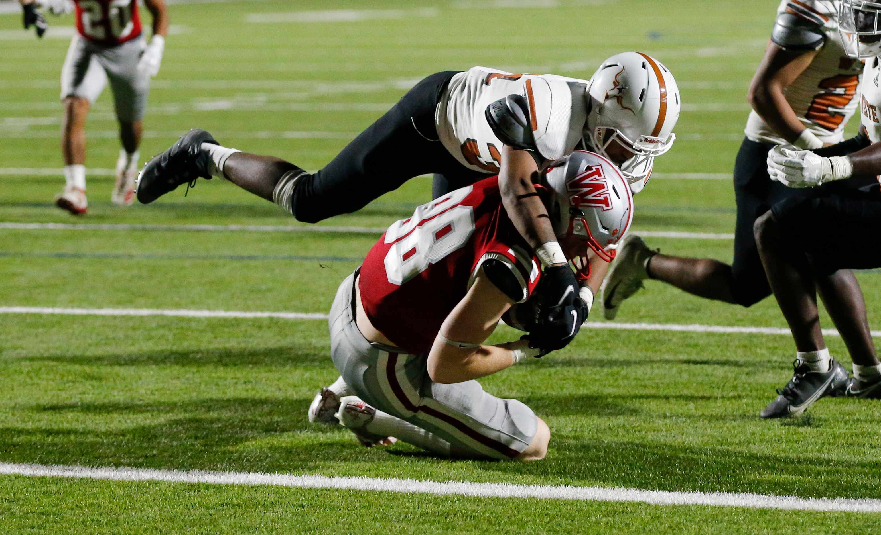
<instances>
[{"instance_id":1,"label":"white yard line passing behind the kneeling player's waist and elbow","mask_svg":"<svg viewBox=\"0 0 881 535\"><path fill-rule=\"evenodd\" d=\"M198 311L186 309L152 308L56 308L49 306L0 306L0 314L61 314L70 316L169 316L173 318L278 318L278 319L328 319L327 314L319 312L270 312L270 311ZM619 331L667 331L675 333L715 333L715 334L765 334L788 335L789 330L781 327L755 326L717 326L717 325L677 325L671 323L619 323L611 321L588 321L589 329ZM835 329L823 329L824 336L840 336ZM872 331L872 336L881 337L881 331Z\"/></svg>"}]
</instances>

